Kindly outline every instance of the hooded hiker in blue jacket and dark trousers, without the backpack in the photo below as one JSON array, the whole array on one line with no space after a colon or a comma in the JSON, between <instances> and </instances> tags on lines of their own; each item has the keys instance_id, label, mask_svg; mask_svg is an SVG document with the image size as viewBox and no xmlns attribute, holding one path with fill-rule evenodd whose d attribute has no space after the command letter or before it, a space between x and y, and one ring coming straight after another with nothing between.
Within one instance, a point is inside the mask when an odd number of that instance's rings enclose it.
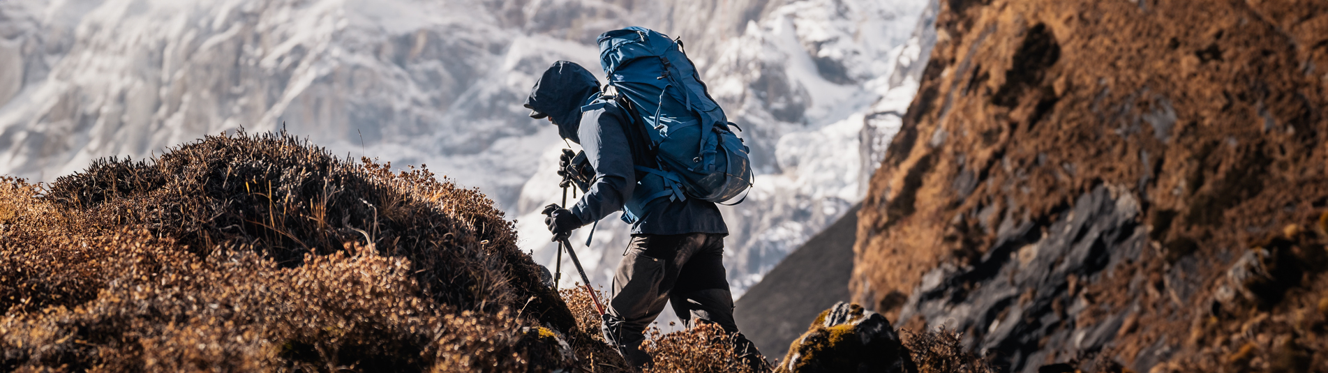
<instances>
[{"instance_id":1,"label":"hooded hiker in blue jacket and dark trousers, without the backpack","mask_svg":"<svg viewBox=\"0 0 1328 373\"><path fill-rule=\"evenodd\" d=\"M543 73L525 106L531 109L531 118L547 118L562 138L584 149L584 162L564 151L559 163L559 174L586 192L571 208L544 208L554 240L564 240L572 230L616 211L623 211L623 220L632 226L603 315L604 338L629 364L648 365L651 357L640 350L643 333L671 303L685 327L692 327L693 320L718 324L736 335L736 349L749 364L765 364L733 321L722 261L729 231L720 210L700 198L659 198L668 194L669 186L663 177L639 167L659 165L643 143L648 139L632 135L639 130L632 126L641 125L632 121L629 108L604 98L599 80L568 61L558 61Z\"/></svg>"}]
</instances>

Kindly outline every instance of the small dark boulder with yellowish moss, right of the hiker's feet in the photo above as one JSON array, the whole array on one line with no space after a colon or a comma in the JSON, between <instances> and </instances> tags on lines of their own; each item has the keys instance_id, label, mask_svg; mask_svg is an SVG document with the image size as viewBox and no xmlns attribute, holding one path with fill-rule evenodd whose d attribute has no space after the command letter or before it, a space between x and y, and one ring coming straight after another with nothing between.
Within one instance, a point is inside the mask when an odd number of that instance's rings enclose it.
<instances>
[{"instance_id":1,"label":"small dark boulder with yellowish moss, right of the hiker's feet","mask_svg":"<svg viewBox=\"0 0 1328 373\"><path fill-rule=\"evenodd\" d=\"M811 321L774 372L902 373L918 368L884 316L841 301Z\"/></svg>"}]
</instances>

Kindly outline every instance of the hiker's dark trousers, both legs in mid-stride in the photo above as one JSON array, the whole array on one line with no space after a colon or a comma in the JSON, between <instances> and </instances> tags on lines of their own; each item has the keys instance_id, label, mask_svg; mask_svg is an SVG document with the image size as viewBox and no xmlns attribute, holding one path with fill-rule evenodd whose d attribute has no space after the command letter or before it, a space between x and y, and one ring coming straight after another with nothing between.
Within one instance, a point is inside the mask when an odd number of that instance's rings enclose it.
<instances>
[{"instance_id":1,"label":"hiker's dark trousers, both legs in mid-stride","mask_svg":"<svg viewBox=\"0 0 1328 373\"><path fill-rule=\"evenodd\" d=\"M725 332L738 332L724 271L724 235L633 235L614 276L604 338L628 362L648 364L649 356L640 350L643 333L665 303L673 305L688 328L693 319L700 319L718 324ZM756 352L746 338L742 341L744 349Z\"/></svg>"}]
</instances>

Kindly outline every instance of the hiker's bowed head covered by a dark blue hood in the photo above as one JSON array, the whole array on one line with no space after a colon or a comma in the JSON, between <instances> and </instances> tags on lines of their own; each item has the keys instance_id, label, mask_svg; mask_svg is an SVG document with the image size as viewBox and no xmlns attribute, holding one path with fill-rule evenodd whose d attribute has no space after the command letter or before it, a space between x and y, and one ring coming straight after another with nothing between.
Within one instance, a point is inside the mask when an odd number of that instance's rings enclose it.
<instances>
[{"instance_id":1,"label":"hiker's bowed head covered by a dark blue hood","mask_svg":"<svg viewBox=\"0 0 1328 373\"><path fill-rule=\"evenodd\" d=\"M575 62L558 61L544 70L526 97L526 109L535 119L547 118L558 125L558 134L580 143L580 106L599 92L599 80Z\"/></svg>"}]
</instances>

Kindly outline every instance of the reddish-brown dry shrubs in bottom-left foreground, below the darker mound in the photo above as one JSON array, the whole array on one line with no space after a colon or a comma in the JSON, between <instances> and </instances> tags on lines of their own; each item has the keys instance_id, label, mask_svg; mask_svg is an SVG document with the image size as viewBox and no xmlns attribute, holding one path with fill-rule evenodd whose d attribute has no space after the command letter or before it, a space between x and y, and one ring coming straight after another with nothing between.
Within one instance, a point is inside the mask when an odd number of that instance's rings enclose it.
<instances>
[{"instance_id":1,"label":"reddish-brown dry shrubs in bottom-left foreground, below the darker mound","mask_svg":"<svg viewBox=\"0 0 1328 373\"><path fill-rule=\"evenodd\" d=\"M401 258L369 250L282 268L254 251L195 255L125 234L96 300L9 315L0 349L11 368L185 372L529 370L556 350L519 320L453 312L418 297ZM501 369L499 369L501 368Z\"/></svg>"}]
</instances>

